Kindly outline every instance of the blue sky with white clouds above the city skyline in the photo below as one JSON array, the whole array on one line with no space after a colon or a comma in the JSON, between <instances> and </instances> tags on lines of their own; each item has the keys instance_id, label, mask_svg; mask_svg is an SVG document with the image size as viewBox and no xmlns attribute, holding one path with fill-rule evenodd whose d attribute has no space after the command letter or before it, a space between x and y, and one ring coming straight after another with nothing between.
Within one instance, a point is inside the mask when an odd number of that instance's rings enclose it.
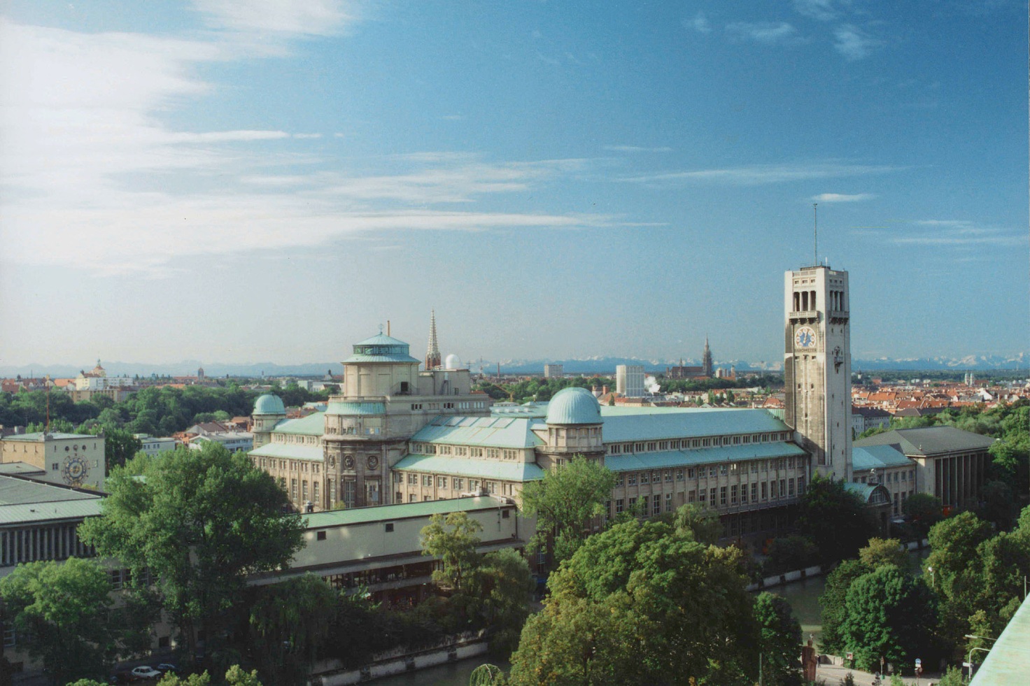
<instances>
[{"instance_id":1,"label":"blue sky with white clouds above the city skyline","mask_svg":"<svg viewBox=\"0 0 1030 686\"><path fill-rule=\"evenodd\" d=\"M1024 2L0 8L0 364L1027 348Z\"/></svg>"}]
</instances>

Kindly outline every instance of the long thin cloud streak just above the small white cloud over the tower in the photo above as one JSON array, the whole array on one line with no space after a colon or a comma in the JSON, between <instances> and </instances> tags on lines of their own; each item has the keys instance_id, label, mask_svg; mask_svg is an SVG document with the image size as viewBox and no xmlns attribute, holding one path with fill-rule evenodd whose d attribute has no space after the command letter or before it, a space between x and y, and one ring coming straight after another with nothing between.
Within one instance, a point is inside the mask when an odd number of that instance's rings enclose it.
<instances>
[{"instance_id":1,"label":"long thin cloud streak just above the small white cloud over the tower","mask_svg":"<svg viewBox=\"0 0 1030 686\"><path fill-rule=\"evenodd\" d=\"M853 165L836 163L815 163L797 165L750 165L722 169L696 169L691 171L665 172L643 176L625 177L624 181L709 181L737 185L758 185L783 183L819 178L839 178L864 174L886 174L903 169L888 165Z\"/></svg>"}]
</instances>

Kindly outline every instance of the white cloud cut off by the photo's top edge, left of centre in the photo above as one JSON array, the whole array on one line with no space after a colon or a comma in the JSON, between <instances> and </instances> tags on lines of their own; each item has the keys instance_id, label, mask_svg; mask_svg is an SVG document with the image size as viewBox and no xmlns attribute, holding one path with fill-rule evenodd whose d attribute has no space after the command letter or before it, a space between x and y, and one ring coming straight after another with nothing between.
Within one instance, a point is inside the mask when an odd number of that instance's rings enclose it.
<instances>
[{"instance_id":1,"label":"white cloud cut off by the photo's top edge, left of centre","mask_svg":"<svg viewBox=\"0 0 1030 686\"><path fill-rule=\"evenodd\" d=\"M333 35L353 20L340 0L193 0L207 23L243 33Z\"/></svg>"}]
</instances>

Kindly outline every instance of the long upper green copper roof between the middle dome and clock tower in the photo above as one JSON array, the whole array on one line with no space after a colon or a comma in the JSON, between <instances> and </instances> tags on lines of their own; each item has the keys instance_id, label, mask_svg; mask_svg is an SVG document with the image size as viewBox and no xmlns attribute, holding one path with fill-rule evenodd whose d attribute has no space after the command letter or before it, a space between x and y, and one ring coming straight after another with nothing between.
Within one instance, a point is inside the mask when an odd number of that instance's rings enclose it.
<instances>
[{"instance_id":1,"label":"long upper green copper roof between the middle dome and clock tower","mask_svg":"<svg viewBox=\"0 0 1030 686\"><path fill-rule=\"evenodd\" d=\"M605 443L791 431L760 409L606 406L600 414Z\"/></svg>"}]
</instances>

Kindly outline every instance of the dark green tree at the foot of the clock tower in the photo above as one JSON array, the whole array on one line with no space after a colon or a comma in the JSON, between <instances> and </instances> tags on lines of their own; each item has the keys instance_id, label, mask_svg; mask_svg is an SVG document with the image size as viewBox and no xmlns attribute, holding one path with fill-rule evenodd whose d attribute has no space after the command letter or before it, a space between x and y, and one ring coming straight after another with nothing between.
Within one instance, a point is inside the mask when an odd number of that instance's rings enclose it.
<instances>
[{"instance_id":1,"label":"dark green tree at the foot of the clock tower","mask_svg":"<svg viewBox=\"0 0 1030 686\"><path fill-rule=\"evenodd\" d=\"M801 496L797 528L812 538L824 563L854 557L879 530L865 503L843 481L819 476L813 477Z\"/></svg>"}]
</instances>

